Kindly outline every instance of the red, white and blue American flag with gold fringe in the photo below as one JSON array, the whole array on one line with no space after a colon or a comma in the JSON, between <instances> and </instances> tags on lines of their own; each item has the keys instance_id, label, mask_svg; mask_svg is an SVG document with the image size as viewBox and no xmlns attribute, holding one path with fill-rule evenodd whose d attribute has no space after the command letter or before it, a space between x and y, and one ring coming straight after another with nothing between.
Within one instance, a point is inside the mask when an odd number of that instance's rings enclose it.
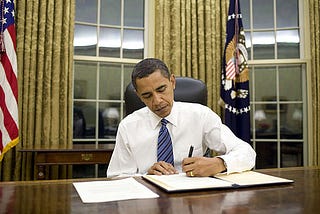
<instances>
[{"instance_id":1,"label":"red, white and blue American flag with gold fringe","mask_svg":"<svg viewBox=\"0 0 320 214\"><path fill-rule=\"evenodd\" d=\"M0 161L19 141L16 32L13 0L0 0Z\"/></svg>"}]
</instances>

